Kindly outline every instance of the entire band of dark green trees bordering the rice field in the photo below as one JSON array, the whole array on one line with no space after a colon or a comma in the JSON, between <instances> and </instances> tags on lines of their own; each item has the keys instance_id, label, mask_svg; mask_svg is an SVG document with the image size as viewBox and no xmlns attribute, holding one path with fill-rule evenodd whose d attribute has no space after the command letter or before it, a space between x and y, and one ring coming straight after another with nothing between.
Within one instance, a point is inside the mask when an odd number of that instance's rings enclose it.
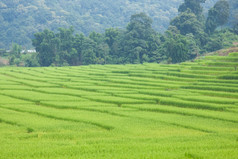
<instances>
[{"instance_id":1,"label":"entire band of dark green trees bordering the rice field","mask_svg":"<svg viewBox=\"0 0 238 159\"><path fill-rule=\"evenodd\" d=\"M232 1L230 6L228 1L219 0L206 16L205 2L184 0L164 33L153 28L153 19L144 12L133 14L125 27L107 28L102 33L79 34L73 26L45 29L32 39L36 54L22 55L22 47L13 43L9 63L29 67L179 63L232 46L238 41L238 21L230 14L238 2Z\"/></svg>"}]
</instances>

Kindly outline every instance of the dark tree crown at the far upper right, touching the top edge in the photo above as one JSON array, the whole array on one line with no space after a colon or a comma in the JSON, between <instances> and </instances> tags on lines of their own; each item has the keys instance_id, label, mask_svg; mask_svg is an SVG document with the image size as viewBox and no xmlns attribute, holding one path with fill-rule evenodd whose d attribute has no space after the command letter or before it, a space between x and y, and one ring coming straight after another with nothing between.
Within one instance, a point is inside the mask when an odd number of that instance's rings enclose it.
<instances>
[{"instance_id":1,"label":"dark tree crown at the far upper right, touching the top edge","mask_svg":"<svg viewBox=\"0 0 238 159\"><path fill-rule=\"evenodd\" d=\"M226 0L219 0L208 12L206 20L206 32L211 34L218 26L227 23L229 18L229 3Z\"/></svg>"}]
</instances>

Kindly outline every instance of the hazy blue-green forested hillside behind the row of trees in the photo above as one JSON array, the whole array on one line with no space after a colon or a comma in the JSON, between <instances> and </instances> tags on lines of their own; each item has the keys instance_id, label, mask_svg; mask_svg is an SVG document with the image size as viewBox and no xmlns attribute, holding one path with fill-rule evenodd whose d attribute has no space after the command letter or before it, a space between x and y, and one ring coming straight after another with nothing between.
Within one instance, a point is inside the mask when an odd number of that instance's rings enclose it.
<instances>
[{"instance_id":1,"label":"hazy blue-green forested hillside behind the row of trees","mask_svg":"<svg viewBox=\"0 0 238 159\"><path fill-rule=\"evenodd\" d=\"M210 8L217 0L207 0ZM1 0L0 48L18 43L31 47L34 33L74 26L88 35L106 28L124 28L135 13L145 12L163 32L183 0Z\"/></svg>"}]
</instances>

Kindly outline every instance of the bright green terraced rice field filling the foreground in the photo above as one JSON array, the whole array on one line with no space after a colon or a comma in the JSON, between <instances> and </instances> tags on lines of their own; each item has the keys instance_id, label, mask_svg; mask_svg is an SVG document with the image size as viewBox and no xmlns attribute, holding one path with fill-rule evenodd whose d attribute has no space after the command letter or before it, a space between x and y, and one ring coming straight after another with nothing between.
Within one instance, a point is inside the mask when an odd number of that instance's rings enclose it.
<instances>
[{"instance_id":1,"label":"bright green terraced rice field filling the foreground","mask_svg":"<svg viewBox=\"0 0 238 159\"><path fill-rule=\"evenodd\" d=\"M237 159L237 64L0 68L0 158Z\"/></svg>"}]
</instances>

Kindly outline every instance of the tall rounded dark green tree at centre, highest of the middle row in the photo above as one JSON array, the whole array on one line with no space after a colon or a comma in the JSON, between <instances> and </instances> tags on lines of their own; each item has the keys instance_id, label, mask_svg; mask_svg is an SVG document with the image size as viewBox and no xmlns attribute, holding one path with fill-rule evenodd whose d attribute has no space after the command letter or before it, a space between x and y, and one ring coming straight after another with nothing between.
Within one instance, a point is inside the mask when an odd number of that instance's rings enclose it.
<instances>
[{"instance_id":1,"label":"tall rounded dark green tree at centre, highest of the middle row","mask_svg":"<svg viewBox=\"0 0 238 159\"><path fill-rule=\"evenodd\" d=\"M157 50L156 32L152 28L152 19L145 13L134 14L122 41L123 51L125 53L125 63L143 63L148 62L155 50ZM148 57L148 58L145 58Z\"/></svg>"}]
</instances>

